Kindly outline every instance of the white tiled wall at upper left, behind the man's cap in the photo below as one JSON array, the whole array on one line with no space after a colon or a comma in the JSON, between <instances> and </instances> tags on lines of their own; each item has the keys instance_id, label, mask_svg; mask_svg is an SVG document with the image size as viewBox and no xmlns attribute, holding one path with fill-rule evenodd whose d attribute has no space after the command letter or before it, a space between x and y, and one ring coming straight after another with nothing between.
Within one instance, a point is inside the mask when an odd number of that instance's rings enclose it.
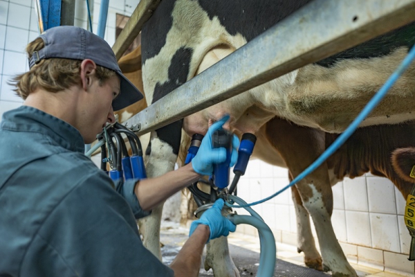
<instances>
[{"instance_id":1,"label":"white tiled wall at upper left, behind the man's cap","mask_svg":"<svg viewBox=\"0 0 415 277\"><path fill-rule=\"evenodd\" d=\"M116 41L116 14L131 16L140 0L110 0L104 39L109 45ZM97 33L99 0L89 0L93 32ZM85 0L75 0L75 26L87 28ZM24 48L39 35L34 0L0 0L0 118L4 112L23 102L15 95L8 80L28 70ZM1 120L1 119L0 119Z\"/></svg>"}]
</instances>

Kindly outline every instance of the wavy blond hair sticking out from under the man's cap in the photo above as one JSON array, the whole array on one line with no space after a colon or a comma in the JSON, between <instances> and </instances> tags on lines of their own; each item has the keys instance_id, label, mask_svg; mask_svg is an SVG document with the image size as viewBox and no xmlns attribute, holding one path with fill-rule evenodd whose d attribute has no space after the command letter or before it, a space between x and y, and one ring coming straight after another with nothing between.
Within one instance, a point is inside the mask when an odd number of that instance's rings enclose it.
<instances>
[{"instance_id":1,"label":"wavy blond hair sticking out from under the man's cap","mask_svg":"<svg viewBox=\"0 0 415 277\"><path fill-rule=\"evenodd\" d=\"M44 48L42 38L38 37L26 46L29 59L35 51ZM81 85L80 68L82 60L51 58L41 60L30 71L17 75L10 82L16 88L17 95L26 100L28 95L37 89L50 92L62 91L74 85ZM106 80L116 75L116 72L102 66L95 70L95 78L102 85Z\"/></svg>"}]
</instances>

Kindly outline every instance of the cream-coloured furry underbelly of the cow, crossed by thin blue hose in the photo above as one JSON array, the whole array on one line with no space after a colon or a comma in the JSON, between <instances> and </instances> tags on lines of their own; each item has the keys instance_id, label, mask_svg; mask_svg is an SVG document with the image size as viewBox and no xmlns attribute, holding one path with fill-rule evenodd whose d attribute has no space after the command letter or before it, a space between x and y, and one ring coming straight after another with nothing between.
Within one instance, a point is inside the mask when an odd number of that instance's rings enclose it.
<instances>
[{"instance_id":1,"label":"cream-coloured furry underbelly of the cow, crossed by thin blue hose","mask_svg":"<svg viewBox=\"0 0 415 277\"><path fill-rule=\"evenodd\" d=\"M326 132L342 132L406 55L407 48L401 47L383 57L343 60L331 67L304 66L298 71L293 87L287 91L288 109L282 116L299 125L318 127ZM361 126L396 124L414 119L414 75L415 64L412 64ZM301 118L301 121L296 118Z\"/></svg>"}]
</instances>

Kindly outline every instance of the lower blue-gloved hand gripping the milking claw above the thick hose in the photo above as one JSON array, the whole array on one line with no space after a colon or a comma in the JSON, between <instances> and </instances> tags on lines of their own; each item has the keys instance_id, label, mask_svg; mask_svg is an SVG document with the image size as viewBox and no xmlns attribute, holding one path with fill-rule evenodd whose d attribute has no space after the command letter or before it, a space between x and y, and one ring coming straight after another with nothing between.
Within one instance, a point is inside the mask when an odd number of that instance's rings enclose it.
<instances>
[{"instance_id":1,"label":"lower blue-gloved hand gripping the milking claw above the thick hose","mask_svg":"<svg viewBox=\"0 0 415 277\"><path fill-rule=\"evenodd\" d=\"M224 217L221 213L223 204L225 204L223 199L217 199L216 202L214 202L213 206L206 210L199 220L192 222L192 225L190 225L189 236L192 235L199 224L209 226L209 240L219 238L222 235L227 236L229 235L229 232L234 232L237 229L237 226L228 220L228 218Z\"/></svg>"}]
</instances>

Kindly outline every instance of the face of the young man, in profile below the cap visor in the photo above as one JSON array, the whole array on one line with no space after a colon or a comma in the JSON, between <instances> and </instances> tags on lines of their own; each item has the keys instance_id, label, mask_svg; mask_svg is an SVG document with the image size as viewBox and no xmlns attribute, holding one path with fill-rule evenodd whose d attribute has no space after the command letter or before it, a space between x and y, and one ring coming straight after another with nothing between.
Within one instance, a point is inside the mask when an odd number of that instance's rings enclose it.
<instances>
[{"instance_id":1,"label":"face of the young man, in profile below the cap visor","mask_svg":"<svg viewBox=\"0 0 415 277\"><path fill-rule=\"evenodd\" d=\"M96 135L102 132L106 123L114 123L112 102L120 93L120 78L113 76L105 81L102 86L98 79L93 78L89 91L89 105L84 109L85 118L89 122L84 123L84 141L92 143Z\"/></svg>"}]
</instances>

